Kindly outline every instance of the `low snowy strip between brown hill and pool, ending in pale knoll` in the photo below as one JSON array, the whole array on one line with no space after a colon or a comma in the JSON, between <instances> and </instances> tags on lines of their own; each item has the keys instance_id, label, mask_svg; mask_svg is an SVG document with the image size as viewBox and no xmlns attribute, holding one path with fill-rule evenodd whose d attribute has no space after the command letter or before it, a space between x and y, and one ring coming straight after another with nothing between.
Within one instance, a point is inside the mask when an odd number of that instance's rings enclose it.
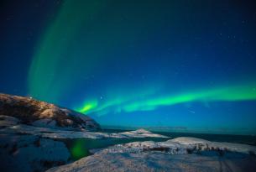
<instances>
[{"instance_id":1,"label":"low snowy strip between brown hill and pool, ending in pale knoll","mask_svg":"<svg viewBox=\"0 0 256 172\"><path fill-rule=\"evenodd\" d=\"M32 125L19 124L16 117L0 116L0 133L33 134L43 138L168 138L166 136L151 133L144 129L138 129L123 133L100 133L64 130L60 128L40 128Z\"/></svg>"}]
</instances>

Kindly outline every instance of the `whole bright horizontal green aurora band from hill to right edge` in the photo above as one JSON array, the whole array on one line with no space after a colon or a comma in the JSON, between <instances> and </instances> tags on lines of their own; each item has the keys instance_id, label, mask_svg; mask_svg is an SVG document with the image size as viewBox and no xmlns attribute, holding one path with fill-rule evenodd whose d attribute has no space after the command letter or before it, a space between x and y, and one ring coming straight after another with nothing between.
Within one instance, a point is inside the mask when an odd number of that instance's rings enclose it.
<instances>
[{"instance_id":1,"label":"whole bright horizontal green aurora band from hill to right edge","mask_svg":"<svg viewBox=\"0 0 256 172\"><path fill-rule=\"evenodd\" d=\"M137 94L138 97L142 96ZM173 106L185 102L234 102L234 101L253 101L256 100L256 85L248 86L229 86L217 89L202 91L191 91L178 95L155 96L152 98L126 96L123 99L113 99L112 101L97 105L97 102L88 102L81 108L76 108L78 112L104 115L108 112L136 112L152 111L162 106ZM137 100L135 100L137 99Z\"/></svg>"}]
</instances>

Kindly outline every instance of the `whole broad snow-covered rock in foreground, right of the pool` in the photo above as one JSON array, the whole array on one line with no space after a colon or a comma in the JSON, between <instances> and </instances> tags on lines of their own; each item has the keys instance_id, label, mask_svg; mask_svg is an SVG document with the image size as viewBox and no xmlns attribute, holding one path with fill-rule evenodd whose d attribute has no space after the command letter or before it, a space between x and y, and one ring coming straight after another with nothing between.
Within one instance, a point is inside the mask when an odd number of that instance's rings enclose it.
<instances>
[{"instance_id":1,"label":"whole broad snow-covered rock in foreground, right of the pool","mask_svg":"<svg viewBox=\"0 0 256 172\"><path fill-rule=\"evenodd\" d=\"M93 171L255 171L256 148L217 143L200 138L175 138L166 142L133 142L101 149L96 154L47 172Z\"/></svg>"}]
</instances>

